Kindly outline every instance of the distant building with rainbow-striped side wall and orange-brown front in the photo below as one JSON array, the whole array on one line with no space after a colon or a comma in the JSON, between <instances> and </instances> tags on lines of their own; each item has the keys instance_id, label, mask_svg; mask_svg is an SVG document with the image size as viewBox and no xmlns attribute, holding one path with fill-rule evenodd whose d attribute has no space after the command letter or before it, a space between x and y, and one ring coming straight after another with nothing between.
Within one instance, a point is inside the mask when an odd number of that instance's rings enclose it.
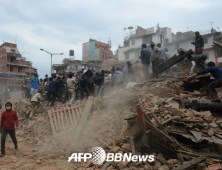
<instances>
[{"instance_id":1,"label":"distant building with rainbow-striped side wall and orange-brown front","mask_svg":"<svg viewBox=\"0 0 222 170\"><path fill-rule=\"evenodd\" d=\"M89 42L82 45L82 61L103 61L113 58L111 49L111 40L108 44L90 39Z\"/></svg>"}]
</instances>

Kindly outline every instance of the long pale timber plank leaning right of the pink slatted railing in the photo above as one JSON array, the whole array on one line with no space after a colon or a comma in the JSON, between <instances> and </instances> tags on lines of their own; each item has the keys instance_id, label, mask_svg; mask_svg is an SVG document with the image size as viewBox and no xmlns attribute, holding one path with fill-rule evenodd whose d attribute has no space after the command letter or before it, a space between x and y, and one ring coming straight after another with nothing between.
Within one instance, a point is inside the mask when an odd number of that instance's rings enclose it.
<instances>
[{"instance_id":1,"label":"long pale timber plank leaning right of the pink slatted railing","mask_svg":"<svg viewBox=\"0 0 222 170\"><path fill-rule=\"evenodd\" d=\"M88 100L87 100L87 103L85 105L85 108L83 110L83 113L82 113L82 117L80 119L80 122L79 122L79 125L77 126L76 128L76 133L75 133L75 139L74 141L78 141L80 135L81 135L81 132L82 132L82 129L83 129L83 126L89 116L89 113L91 111L91 108L92 108L92 104L93 104L93 97L92 96L89 96Z\"/></svg>"}]
</instances>

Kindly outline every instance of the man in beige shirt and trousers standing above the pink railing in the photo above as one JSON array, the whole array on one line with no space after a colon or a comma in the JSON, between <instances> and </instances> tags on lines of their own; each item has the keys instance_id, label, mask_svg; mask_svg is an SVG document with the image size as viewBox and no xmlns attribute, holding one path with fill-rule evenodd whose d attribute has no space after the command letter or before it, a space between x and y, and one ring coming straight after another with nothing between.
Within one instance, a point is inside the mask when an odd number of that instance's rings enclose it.
<instances>
[{"instance_id":1,"label":"man in beige shirt and trousers standing above the pink railing","mask_svg":"<svg viewBox=\"0 0 222 170\"><path fill-rule=\"evenodd\" d=\"M69 104L71 105L75 100L75 85L77 84L77 82L75 81L75 78L73 78L72 74L69 74L68 77L69 78L67 78L67 88L69 95Z\"/></svg>"}]
</instances>

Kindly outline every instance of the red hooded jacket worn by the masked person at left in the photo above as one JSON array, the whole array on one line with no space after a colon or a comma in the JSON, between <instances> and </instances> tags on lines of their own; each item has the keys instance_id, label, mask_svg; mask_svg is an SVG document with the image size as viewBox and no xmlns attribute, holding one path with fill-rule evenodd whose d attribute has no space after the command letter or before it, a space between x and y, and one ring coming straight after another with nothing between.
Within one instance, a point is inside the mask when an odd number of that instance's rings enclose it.
<instances>
[{"instance_id":1,"label":"red hooded jacket worn by the masked person at left","mask_svg":"<svg viewBox=\"0 0 222 170\"><path fill-rule=\"evenodd\" d=\"M15 129L15 123L18 127L18 116L15 110L6 110L2 113L0 129Z\"/></svg>"}]
</instances>

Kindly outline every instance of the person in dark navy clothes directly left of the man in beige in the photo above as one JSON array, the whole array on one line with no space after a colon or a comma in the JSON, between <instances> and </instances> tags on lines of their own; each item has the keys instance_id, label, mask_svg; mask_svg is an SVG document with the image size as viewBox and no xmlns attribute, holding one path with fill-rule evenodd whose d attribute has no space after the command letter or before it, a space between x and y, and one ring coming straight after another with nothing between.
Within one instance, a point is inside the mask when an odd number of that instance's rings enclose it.
<instances>
[{"instance_id":1,"label":"person in dark navy clothes directly left of the man in beige","mask_svg":"<svg viewBox=\"0 0 222 170\"><path fill-rule=\"evenodd\" d=\"M57 77L57 80L51 82L49 84L49 100L51 101L51 107L54 106L55 98L57 97L60 102L62 102L61 98L57 94L59 91L59 87L65 87L63 84L60 83L61 78ZM51 99L52 96L52 99Z\"/></svg>"}]
</instances>

